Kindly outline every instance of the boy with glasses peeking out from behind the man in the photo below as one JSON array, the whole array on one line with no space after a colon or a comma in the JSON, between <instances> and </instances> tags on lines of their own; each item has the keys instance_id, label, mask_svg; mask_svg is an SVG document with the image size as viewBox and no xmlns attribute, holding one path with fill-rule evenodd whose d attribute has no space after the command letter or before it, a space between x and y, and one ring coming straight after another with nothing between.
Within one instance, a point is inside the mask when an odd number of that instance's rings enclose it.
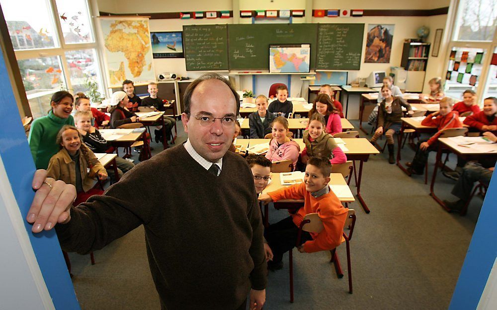
<instances>
[{"instance_id":1,"label":"boy with glasses peeking out from behind the man","mask_svg":"<svg viewBox=\"0 0 497 310\"><path fill-rule=\"evenodd\" d=\"M273 163L264 155L250 154L247 156L248 167L252 171L255 193L260 194L271 180L271 166ZM273 252L264 239L264 256L266 261L273 260Z\"/></svg>"}]
</instances>

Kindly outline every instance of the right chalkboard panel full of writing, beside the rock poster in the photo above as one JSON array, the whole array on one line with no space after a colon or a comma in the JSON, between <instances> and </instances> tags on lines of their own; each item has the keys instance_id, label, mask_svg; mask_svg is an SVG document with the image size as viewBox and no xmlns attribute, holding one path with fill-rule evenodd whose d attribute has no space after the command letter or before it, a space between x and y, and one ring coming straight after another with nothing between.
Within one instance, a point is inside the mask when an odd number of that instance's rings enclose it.
<instances>
[{"instance_id":1,"label":"right chalkboard panel full of writing, beside the rock poster","mask_svg":"<svg viewBox=\"0 0 497 310\"><path fill-rule=\"evenodd\" d=\"M319 24L316 69L359 70L364 24Z\"/></svg>"}]
</instances>

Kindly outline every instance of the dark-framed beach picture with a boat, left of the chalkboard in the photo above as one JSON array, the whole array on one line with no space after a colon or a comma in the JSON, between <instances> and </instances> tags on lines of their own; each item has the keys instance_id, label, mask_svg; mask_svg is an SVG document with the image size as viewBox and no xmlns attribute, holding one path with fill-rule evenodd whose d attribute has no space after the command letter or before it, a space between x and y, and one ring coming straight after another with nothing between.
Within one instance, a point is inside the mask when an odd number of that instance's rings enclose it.
<instances>
[{"instance_id":1,"label":"dark-framed beach picture with a boat, left of the chalkboard","mask_svg":"<svg viewBox=\"0 0 497 310\"><path fill-rule=\"evenodd\" d=\"M151 32L152 55L154 58L184 58L183 32Z\"/></svg>"}]
</instances>

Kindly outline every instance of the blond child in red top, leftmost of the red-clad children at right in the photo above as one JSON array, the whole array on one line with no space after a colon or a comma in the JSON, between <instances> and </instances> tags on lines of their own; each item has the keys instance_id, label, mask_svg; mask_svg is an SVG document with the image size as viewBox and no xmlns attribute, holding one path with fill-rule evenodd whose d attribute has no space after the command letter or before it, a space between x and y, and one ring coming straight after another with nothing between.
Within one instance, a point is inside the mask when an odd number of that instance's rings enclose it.
<instances>
[{"instance_id":1,"label":"blond child in red top, leftmost of the red-clad children at right","mask_svg":"<svg viewBox=\"0 0 497 310\"><path fill-rule=\"evenodd\" d=\"M428 140L424 139L417 142L416 154L413 162L407 163L411 174L422 175L423 168L428 160L428 154L436 150L436 142L438 136L443 129L446 128L461 128L463 124L459 121L459 114L452 111L454 102L449 97L445 97L440 101L440 111L428 115L421 124L423 126L437 127L438 131Z\"/></svg>"}]
</instances>

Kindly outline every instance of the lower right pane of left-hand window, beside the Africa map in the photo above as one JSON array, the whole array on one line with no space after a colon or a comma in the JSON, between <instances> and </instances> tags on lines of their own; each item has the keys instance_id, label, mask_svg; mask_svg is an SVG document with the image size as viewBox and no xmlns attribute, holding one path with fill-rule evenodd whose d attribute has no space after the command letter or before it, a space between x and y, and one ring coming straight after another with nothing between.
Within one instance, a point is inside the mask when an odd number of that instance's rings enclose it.
<instances>
[{"instance_id":1,"label":"lower right pane of left-hand window, beside the Africa map","mask_svg":"<svg viewBox=\"0 0 497 310\"><path fill-rule=\"evenodd\" d=\"M86 86L88 80L99 81L95 50L66 52L66 61L71 79L72 92L85 93L88 91L88 87Z\"/></svg>"}]
</instances>

